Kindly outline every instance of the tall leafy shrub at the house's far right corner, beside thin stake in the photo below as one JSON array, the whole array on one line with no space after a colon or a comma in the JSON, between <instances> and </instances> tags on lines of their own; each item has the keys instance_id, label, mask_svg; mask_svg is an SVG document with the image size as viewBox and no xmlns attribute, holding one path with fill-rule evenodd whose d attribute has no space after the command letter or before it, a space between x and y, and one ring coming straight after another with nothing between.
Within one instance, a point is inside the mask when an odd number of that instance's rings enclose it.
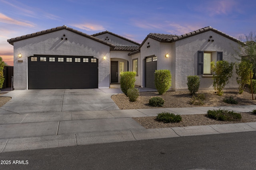
<instances>
[{"instance_id":1,"label":"tall leafy shrub at the house's far right corner, beside thin stake","mask_svg":"<svg viewBox=\"0 0 256 170\"><path fill-rule=\"evenodd\" d=\"M244 92L244 85L250 84L250 78L252 78L252 67L253 64L248 61L242 61L241 63L236 63L236 74L238 77L236 78L236 82L238 83L239 94ZM251 77L250 77L250 72Z\"/></svg>"}]
</instances>

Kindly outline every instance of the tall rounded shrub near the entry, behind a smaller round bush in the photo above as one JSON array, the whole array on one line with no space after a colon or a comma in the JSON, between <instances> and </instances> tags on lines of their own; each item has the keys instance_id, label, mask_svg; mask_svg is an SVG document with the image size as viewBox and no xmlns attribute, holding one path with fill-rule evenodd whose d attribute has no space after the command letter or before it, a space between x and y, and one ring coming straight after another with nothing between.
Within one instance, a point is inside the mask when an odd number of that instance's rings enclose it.
<instances>
[{"instance_id":1,"label":"tall rounded shrub near the entry, behind a smaller round bush","mask_svg":"<svg viewBox=\"0 0 256 170\"><path fill-rule=\"evenodd\" d=\"M120 88L122 92L127 96L127 90L134 88L136 72L126 71L120 73Z\"/></svg>"}]
</instances>

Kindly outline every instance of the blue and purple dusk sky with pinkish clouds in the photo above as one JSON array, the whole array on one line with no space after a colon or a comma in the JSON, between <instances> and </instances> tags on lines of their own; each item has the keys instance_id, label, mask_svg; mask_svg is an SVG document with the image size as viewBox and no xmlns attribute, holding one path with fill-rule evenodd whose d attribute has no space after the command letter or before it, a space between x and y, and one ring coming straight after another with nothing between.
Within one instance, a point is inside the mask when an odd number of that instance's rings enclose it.
<instances>
[{"instance_id":1,"label":"blue and purple dusk sky with pinkish clouds","mask_svg":"<svg viewBox=\"0 0 256 170\"><path fill-rule=\"evenodd\" d=\"M256 33L256 0L0 0L0 56L13 66L7 39L62 25L138 43L149 33L182 35L207 26L239 38Z\"/></svg>"}]
</instances>

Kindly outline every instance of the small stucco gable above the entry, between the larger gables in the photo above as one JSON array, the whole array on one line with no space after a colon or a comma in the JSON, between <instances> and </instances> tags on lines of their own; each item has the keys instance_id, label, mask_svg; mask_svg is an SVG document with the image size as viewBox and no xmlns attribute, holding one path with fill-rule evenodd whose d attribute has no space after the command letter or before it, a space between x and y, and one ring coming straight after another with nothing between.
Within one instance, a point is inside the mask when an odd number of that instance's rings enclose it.
<instances>
[{"instance_id":1,"label":"small stucco gable above the entry, between the larger gables","mask_svg":"<svg viewBox=\"0 0 256 170\"><path fill-rule=\"evenodd\" d=\"M138 46L130 41L127 41L120 37L116 37L110 33L104 33L102 35L97 35L95 37L98 39L102 39L103 41L106 41L108 43L114 44L114 45Z\"/></svg>"}]
</instances>

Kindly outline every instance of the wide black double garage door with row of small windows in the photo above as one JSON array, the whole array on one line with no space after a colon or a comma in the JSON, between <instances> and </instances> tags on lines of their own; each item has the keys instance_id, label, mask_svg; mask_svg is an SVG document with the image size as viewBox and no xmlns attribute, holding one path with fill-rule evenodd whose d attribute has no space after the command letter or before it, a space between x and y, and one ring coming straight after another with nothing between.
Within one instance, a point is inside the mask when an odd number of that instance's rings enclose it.
<instances>
[{"instance_id":1,"label":"wide black double garage door with row of small windows","mask_svg":"<svg viewBox=\"0 0 256 170\"><path fill-rule=\"evenodd\" d=\"M98 88L98 59L81 56L28 57L28 89Z\"/></svg>"}]
</instances>

